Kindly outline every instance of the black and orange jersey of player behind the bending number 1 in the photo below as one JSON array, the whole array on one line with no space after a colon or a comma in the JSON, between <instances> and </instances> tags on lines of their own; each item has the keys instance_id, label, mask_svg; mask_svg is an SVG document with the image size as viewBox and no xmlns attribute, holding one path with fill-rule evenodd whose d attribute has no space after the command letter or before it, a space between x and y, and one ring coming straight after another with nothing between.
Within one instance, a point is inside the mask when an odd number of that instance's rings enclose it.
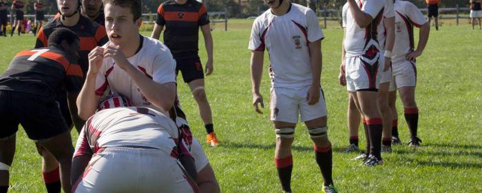
<instances>
[{"instance_id":1,"label":"black and orange jersey of player behind the bending number 1","mask_svg":"<svg viewBox=\"0 0 482 193\"><path fill-rule=\"evenodd\" d=\"M53 21L45 24L39 31L35 48L48 46L48 37L56 28L69 28L78 35L78 39L81 40L81 50L78 51L80 55L78 64L81 65L83 74L86 74L87 70L89 70L89 52L96 48L96 46L104 45L109 41L105 28L82 15L79 17L75 26L63 26L60 17L57 17Z\"/></svg>"}]
</instances>

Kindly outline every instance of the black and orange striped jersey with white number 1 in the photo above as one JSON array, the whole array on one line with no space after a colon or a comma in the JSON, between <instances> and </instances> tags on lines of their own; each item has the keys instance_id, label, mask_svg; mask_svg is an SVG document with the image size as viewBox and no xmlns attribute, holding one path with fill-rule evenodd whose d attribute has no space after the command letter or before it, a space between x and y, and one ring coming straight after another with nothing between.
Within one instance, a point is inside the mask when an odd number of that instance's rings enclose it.
<instances>
[{"instance_id":1,"label":"black and orange striped jersey with white number 1","mask_svg":"<svg viewBox=\"0 0 482 193\"><path fill-rule=\"evenodd\" d=\"M44 47L19 52L0 75L0 90L12 90L55 97L59 93L80 92L81 67L63 50Z\"/></svg>"}]
</instances>

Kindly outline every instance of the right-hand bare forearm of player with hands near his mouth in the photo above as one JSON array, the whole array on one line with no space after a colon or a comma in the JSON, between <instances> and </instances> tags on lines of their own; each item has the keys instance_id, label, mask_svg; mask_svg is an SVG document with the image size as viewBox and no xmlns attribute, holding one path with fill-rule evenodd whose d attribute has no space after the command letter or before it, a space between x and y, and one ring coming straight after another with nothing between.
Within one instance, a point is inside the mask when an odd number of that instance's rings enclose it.
<instances>
[{"instance_id":1,"label":"right-hand bare forearm of player with hands near his mouth","mask_svg":"<svg viewBox=\"0 0 482 193\"><path fill-rule=\"evenodd\" d=\"M143 72L137 70L132 64L127 65L125 72L144 94L147 100L161 110L168 111L174 105L176 99L176 83L157 83L146 77Z\"/></svg>"}]
</instances>

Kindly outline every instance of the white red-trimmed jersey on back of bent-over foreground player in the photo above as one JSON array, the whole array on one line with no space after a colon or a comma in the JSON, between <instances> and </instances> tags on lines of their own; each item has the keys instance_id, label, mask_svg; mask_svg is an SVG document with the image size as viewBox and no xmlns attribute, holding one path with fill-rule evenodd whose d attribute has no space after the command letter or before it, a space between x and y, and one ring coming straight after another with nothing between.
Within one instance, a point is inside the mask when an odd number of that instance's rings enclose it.
<instances>
[{"instance_id":1,"label":"white red-trimmed jersey on back of bent-over foreground player","mask_svg":"<svg viewBox=\"0 0 482 193\"><path fill-rule=\"evenodd\" d=\"M176 123L151 108L111 108L90 117L78 136L75 156L108 147L136 146L163 150L177 158Z\"/></svg>"}]
</instances>

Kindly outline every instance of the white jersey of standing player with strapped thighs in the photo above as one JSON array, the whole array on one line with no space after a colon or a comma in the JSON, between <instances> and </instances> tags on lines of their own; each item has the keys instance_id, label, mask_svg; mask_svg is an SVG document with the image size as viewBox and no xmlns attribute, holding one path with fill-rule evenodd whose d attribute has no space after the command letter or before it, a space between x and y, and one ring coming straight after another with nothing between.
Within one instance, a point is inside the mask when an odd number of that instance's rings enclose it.
<instances>
[{"instance_id":1,"label":"white jersey of standing player with strapped thighs","mask_svg":"<svg viewBox=\"0 0 482 193\"><path fill-rule=\"evenodd\" d=\"M305 87L313 80L308 43L323 38L315 12L290 3L282 16L269 9L255 19L248 48L268 50L272 87Z\"/></svg>"}]
</instances>

